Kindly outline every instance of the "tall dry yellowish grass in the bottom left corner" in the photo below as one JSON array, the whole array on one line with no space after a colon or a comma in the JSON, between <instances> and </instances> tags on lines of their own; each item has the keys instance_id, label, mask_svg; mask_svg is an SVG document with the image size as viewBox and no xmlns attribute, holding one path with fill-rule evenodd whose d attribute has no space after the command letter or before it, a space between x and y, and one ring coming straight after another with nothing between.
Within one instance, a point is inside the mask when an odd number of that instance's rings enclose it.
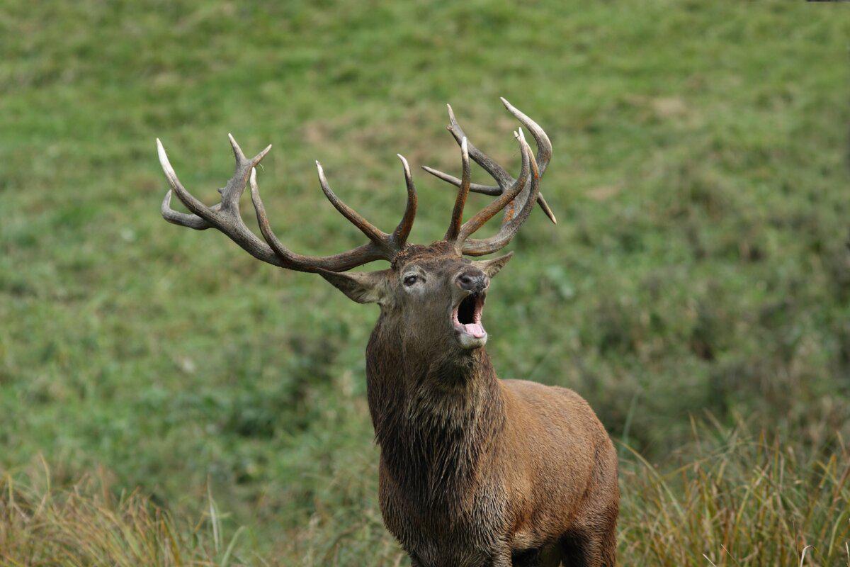
<instances>
[{"instance_id":1,"label":"tall dry yellowish grass in the bottom left corner","mask_svg":"<svg viewBox=\"0 0 850 567\"><path fill-rule=\"evenodd\" d=\"M236 554L241 530L226 537L209 496L191 520L156 506L139 490L111 490L106 475L62 488L50 475L0 480L0 565L180 567L245 564Z\"/></svg>"}]
</instances>

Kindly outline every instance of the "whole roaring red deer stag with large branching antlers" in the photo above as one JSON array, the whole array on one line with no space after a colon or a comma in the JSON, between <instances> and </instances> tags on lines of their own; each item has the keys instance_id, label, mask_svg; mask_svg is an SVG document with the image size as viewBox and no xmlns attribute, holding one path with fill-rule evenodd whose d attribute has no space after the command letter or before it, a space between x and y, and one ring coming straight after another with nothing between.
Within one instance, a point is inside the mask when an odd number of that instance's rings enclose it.
<instances>
[{"instance_id":1,"label":"whole roaring red deer stag with large branching antlers","mask_svg":"<svg viewBox=\"0 0 850 567\"><path fill-rule=\"evenodd\" d=\"M392 233L340 201L316 162L325 196L368 241L332 256L292 252L272 232L257 188L254 167L271 146L247 158L232 136L235 173L213 207L184 189L157 140L171 185L162 216L195 230L220 230L263 262L318 273L348 298L380 306L366 347L369 410L381 449L378 496L384 523L414 566L614 565L620 495L615 451L602 424L569 389L498 379L484 350L484 298L511 254L479 261L464 255L505 247L535 203L554 220L539 188L552 145L536 122L502 102L536 139L537 155L518 129L522 165L513 179L467 142L449 108L462 177L426 167L459 188L445 237L428 246L407 243L416 190L399 156L407 207ZM495 186L471 183L470 156ZM246 185L264 241L239 213ZM464 223L470 190L496 199ZM191 213L170 207L172 191ZM496 235L471 238L506 207ZM345 273L373 260L390 267Z\"/></svg>"}]
</instances>

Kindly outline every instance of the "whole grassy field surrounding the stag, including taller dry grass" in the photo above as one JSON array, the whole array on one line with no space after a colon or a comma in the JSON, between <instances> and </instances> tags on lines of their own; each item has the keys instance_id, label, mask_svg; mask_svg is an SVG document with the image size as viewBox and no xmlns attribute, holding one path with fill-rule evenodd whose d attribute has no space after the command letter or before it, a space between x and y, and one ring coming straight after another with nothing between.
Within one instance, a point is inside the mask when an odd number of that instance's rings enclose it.
<instances>
[{"instance_id":1,"label":"whole grassy field surrounding the stag, including taller dry grass","mask_svg":"<svg viewBox=\"0 0 850 567\"><path fill-rule=\"evenodd\" d=\"M609 428L621 563L850 564L848 38L842 3L0 4L0 564L407 564L376 309L166 224L154 139L210 204L228 132L273 144L275 231L331 253L361 236L314 159L387 230L396 152L457 169L446 102L518 167L499 96L559 222L511 245L488 350ZM414 175L428 242L453 197Z\"/></svg>"}]
</instances>

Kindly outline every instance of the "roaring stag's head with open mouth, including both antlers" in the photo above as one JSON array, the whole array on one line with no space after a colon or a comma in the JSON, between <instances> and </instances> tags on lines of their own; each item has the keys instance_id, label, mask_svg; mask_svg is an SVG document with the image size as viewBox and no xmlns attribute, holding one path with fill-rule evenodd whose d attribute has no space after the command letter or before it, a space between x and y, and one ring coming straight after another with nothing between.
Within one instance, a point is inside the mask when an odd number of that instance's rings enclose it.
<instances>
[{"instance_id":1,"label":"roaring stag's head with open mouth, including both antlers","mask_svg":"<svg viewBox=\"0 0 850 567\"><path fill-rule=\"evenodd\" d=\"M445 236L428 246L407 243L416 216L416 189L410 167L405 158L399 155L407 185L407 207L392 233L377 229L341 201L328 185L320 163L316 162L319 183L328 201L368 241L360 247L332 256L303 256L292 252L271 230L257 185L255 167L271 146L247 158L233 136L229 136L229 139L235 156L235 173L224 189L219 190L221 201L213 207L207 207L184 189L168 162L160 140L156 140L161 166L171 185L171 190L162 201L162 216L170 223L195 230L220 230L254 258L280 268L318 273L348 298L358 303L378 303L381 306L381 320L394 330L395 336L402 340L408 352L433 352L435 347L449 351L478 349L487 340L481 313L490 278L507 264L511 254L479 261L471 261L465 256L482 256L505 247L528 218L535 203L539 203L555 222L539 190L541 174L552 156L552 145L536 122L507 100L501 100L536 139L537 156L532 154L522 128L519 128L514 136L519 143L522 164L518 177L513 178L467 141L449 107L450 124L447 128L461 148L462 177L456 179L430 167L423 167L428 173L458 187ZM495 186L471 183L470 156L496 180ZM251 187L251 198L263 235L262 241L247 228L239 212L239 199L248 185ZM463 207L470 190L497 198L464 223ZM190 214L178 213L171 208L172 193L177 194L191 211ZM503 209L505 213L496 235L484 239L471 237ZM386 260L390 267L373 272L347 271L375 260Z\"/></svg>"}]
</instances>

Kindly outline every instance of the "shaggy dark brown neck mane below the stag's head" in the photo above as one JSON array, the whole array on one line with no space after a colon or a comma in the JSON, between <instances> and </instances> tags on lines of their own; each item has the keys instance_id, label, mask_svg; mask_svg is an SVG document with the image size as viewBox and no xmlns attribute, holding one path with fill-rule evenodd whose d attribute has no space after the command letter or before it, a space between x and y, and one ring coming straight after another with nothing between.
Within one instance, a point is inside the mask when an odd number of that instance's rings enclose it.
<instances>
[{"instance_id":1,"label":"shaggy dark brown neck mane below the stag's head","mask_svg":"<svg viewBox=\"0 0 850 567\"><path fill-rule=\"evenodd\" d=\"M504 422L501 385L484 349L405 351L381 321L366 349L369 411L383 465L419 502L471 494Z\"/></svg>"}]
</instances>

